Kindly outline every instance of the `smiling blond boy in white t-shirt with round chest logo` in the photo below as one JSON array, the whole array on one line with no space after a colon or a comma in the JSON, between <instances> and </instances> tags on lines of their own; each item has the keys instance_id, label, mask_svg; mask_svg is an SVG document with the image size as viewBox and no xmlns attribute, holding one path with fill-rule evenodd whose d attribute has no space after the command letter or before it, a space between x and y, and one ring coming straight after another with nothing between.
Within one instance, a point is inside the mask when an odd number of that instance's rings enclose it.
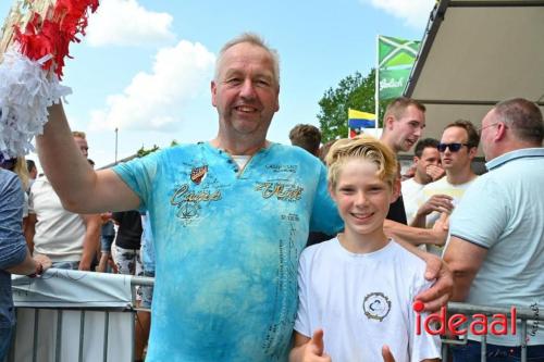
<instances>
[{"instance_id":1,"label":"smiling blond boy in white t-shirt with round chest logo","mask_svg":"<svg viewBox=\"0 0 544 362\"><path fill-rule=\"evenodd\" d=\"M396 362L438 361L440 338L423 328L417 334L412 309L413 297L430 286L425 264L383 232L399 194L394 153L362 136L336 141L326 163L345 230L300 257L289 360L381 361L387 345Z\"/></svg>"}]
</instances>

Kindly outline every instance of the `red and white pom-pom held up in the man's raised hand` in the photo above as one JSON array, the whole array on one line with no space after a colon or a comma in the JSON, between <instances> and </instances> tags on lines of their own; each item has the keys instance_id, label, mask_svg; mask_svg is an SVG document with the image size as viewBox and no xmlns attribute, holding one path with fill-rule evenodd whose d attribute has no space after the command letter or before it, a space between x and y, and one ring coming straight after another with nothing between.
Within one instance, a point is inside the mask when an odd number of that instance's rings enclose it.
<instances>
[{"instance_id":1,"label":"red and white pom-pom held up in the man's raised hand","mask_svg":"<svg viewBox=\"0 0 544 362\"><path fill-rule=\"evenodd\" d=\"M59 84L64 58L70 57L70 42L85 35L88 13L97 10L98 0L24 4L27 13L23 15L16 2L0 39L0 152L8 157L34 150L30 141L44 133L47 108L72 92Z\"/></svg>"}]
</instances>

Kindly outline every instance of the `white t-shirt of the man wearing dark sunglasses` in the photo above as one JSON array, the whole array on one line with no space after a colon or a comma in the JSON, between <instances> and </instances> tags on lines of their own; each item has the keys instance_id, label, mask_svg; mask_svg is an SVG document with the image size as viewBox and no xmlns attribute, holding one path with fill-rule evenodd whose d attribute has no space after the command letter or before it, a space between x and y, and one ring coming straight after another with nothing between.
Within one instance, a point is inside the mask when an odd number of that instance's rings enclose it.
<instances>
[{"instance_id":1,"label":"white t-shirt of the man wearing dark sunglasses","mask_svg":"<svg viewBox=\"0 0 544 362\"><path fill-rule=\"evenodd\" d=\"M423 190L420 192L420 199L418 200L418 205L421 207L423 203L426 202L432 196L434 195L448 195L452 198L454 198L454 207L459 204L459 201L462 199L462 196L465 195L465 191L469 188L470 185L477 179L478 177L472 178L468 183L465 184L459 184L459 185L452 185L447 182L447 177L442 177L438 180L435 180L434 183L426 184L423 187ZM441 214L440 212L433 211L429 215L426 215L426 227L432 228L434 226L434 223L440 219ZM434 245L428 245L428 251L442 257L442 253L444 251L444 247L438 247Z\"/></svg>"}]
</instances>

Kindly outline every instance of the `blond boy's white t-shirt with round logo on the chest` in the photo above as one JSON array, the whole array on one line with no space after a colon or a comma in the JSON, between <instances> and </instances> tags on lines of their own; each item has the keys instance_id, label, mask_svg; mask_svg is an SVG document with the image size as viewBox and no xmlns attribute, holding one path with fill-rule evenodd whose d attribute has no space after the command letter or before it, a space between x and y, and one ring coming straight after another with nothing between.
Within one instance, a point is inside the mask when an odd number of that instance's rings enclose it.
<instances>
[{"instance_id":1,"label":"blond boy's white t-shirt with round logo on the chest","mask_svg":"<svg viewBox=\"0 0 544 362\"><path fill-rule=\"evenodd\" d=\"M383 345L397 362L438 358L440 338L423 327L416 335L413 297L430 286L424 270L394 241L366 254L349 252L337 238L311 246L300 257L295 330L311 337L323 328L335 362L382 361Z\"/></svg>"}]
</instances>

